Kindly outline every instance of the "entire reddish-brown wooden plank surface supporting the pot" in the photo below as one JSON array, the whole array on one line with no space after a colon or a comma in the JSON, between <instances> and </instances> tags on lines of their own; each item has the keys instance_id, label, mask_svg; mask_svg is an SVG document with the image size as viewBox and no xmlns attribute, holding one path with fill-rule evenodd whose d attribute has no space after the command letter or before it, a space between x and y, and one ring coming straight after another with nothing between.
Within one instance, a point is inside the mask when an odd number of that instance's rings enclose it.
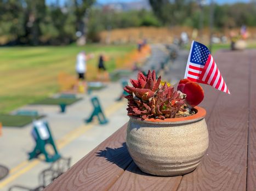
<instances>
[{"instance_id":1,"label":"entire reddish-brown wooden plank surface supporting the pot","mask_svg":"<svg viewBox=\"0 0 256 191\"><path fill-rule=\"evenodd\" d=\"M174 177L141 172L127 151L124 125L45 190L255 190L256 51L214 58L231 95L203 85L209 148L196 170Z\"/></svg>"}]
</instances>

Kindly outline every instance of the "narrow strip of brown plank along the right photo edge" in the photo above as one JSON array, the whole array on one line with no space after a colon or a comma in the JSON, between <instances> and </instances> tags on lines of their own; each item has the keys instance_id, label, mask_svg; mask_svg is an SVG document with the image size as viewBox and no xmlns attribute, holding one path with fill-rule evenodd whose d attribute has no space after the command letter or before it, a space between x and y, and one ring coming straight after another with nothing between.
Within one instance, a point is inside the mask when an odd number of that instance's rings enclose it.
<instances>
[{"instance_id":1,"label":"narrow strip of brown plank along the right photo edge","mask_svg":"<svg viewBox=\"0 0 256 191\"><path fill-rule=\"evenodd\" d=\"M256 189L256 51L249 51L249 129L248 129L248 159L247 159L247 190Z\"/></svg>"}]
</instances>

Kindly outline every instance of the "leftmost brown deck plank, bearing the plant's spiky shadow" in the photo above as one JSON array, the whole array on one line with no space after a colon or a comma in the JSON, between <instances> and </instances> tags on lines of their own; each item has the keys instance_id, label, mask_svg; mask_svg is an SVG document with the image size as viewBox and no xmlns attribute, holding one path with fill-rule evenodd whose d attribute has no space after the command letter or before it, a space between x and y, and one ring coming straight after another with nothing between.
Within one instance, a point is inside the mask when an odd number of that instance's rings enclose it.
<instances>
[{"instance_id":1,"label":"leftmost brown deck plank, bearing the plant's spiky shadow","mask_svg":"<svg viewBox=\"0 0 256 191\"><path fill-rule=\"evenodd\" d=\"M79 160L45 190L107 190L132 162L125 145L127 124Z\"/></svg>"}]
</instances>

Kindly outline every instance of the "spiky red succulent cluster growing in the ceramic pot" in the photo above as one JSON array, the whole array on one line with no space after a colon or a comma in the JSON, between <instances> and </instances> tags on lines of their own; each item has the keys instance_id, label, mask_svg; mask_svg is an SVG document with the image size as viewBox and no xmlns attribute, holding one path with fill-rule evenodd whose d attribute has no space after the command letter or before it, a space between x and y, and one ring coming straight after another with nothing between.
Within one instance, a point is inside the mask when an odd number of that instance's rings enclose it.
<instances>
[{"instance_id":1,"label":"spiky red succulent cluster growing in the ceramic pot","mask_svg":"<svg viewBox=\"0 0 256 191\"><path fill-rule=\"evenodd\" d=\"M173 118L185 103L182 93L174 91L174 87L164 83L162 86L161 76L156 80L155 70L144 76L138 74L138 79L131 79L133 87L126 86L124 90L129 93L128 115L146 118Z\"/></svg>"}]
</instances>

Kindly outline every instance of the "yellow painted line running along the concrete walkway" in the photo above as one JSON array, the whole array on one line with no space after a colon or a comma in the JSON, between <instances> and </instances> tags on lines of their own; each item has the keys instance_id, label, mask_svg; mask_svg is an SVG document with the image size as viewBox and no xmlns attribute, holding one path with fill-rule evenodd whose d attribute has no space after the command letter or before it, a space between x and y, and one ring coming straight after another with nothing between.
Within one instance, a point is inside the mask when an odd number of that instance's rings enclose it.
<instances>
[{"instance_id":1,"label":"yellow painted line running along the concrete walkway","mask_svg":"<svg viewBox=\"0 0 256 191\"><path fill-rule=\"evenodd\" d=\"M115 103L113 105L110 105L106 109L105 115L106 116L110 116L111 114L113 114L113 112L115 112L118 109L122 108L122 106L124 104L126 104L126 102L118 102L118 103ZM83 124L82 126L72 130L71 132L66 134L63 138L61 138L61 139L56 141L57 148L61 149L61 148L65 147L67 144L69 144L70 142L72 142L73 140L75 140L76 138L81 136L83 133L87 132L87 130L93 128L95 126L95 124L96 124L95 122L94 123L90 123L88 125L84 125ZM32 162L29 162L29 161L26 160L26 161L20 163L19 165L15 166L13 169L10 170L10 176L7 177L2 182L0 182L0 188L3 188L8 183L14 181L16 178L18 178L22 174L25 174L27 171L29 171L34 166L36 166L39 162L40 162L40 160L38 160L38 159L35 159Z\"/></svg>"}]
</instances>

